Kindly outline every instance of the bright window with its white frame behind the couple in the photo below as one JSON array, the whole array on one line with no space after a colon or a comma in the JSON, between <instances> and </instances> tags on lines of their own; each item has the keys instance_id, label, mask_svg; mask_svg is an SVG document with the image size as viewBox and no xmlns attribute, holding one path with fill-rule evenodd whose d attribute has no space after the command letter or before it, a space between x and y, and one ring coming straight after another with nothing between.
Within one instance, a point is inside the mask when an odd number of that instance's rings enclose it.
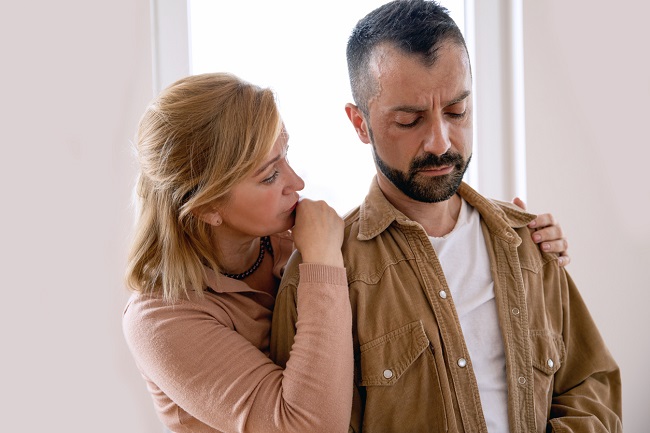
<instances>
[{"instance_id":1,"label":"bright window with its white frame behind the couple","mask_svg":"<svg viewBox=\"0 0 650 433\"><path fill-rule=\"evenodd\" d=\"M521 2L441 2L465 33L478 87L466 180L506 200L525 199ZM382 3L152 0L154 93L189 73L217 70L273 88L303 194L344 213L361 202L375 172L370 146L344 111L352 100L345 44L356 21Z\"/></svg>"}]
</instances>

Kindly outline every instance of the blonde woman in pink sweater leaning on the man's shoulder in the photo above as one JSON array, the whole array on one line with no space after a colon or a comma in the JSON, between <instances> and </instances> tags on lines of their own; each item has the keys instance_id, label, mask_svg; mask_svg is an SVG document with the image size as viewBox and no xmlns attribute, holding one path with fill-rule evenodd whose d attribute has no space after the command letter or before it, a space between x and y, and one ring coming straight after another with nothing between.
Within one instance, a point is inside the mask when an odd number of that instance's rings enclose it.
<instances>
[{"instance_id":1,"label":"blonde woman in pink sweater leaning on the man's shoulder","mask_svg":"<svg viewBox=\"0 0 650 433\"><path fill-rule=\"evenodd\" d=\"M343 222L324 202L299 200L304 184L287 163L287 142L272 92L229 74L177 81L140 122L141 208L127 270L134 294L123 327L176 433L347 431ZM555 239L554 249L558 230L537 233ZM299 320L283 370L268 358L269 330L294 247L304 262Z\"/></svg>"}]
</instances>

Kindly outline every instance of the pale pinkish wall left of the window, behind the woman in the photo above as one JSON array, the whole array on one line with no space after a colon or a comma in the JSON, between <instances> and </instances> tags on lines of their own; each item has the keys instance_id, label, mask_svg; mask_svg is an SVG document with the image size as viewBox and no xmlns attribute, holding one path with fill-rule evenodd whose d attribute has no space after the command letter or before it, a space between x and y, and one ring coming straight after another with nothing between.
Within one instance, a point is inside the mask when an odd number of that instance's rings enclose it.
<instances>
[{"instance_id":1,"label":"pale pinkish wall left of the window, behind the woman","mask_svg":"<svg viewBox=\"0 0 650 433\"><path fill-rule=\"evenodd\" d=\"M120 326L149 2L3 2L0 56L0 430L160 432Z\"/></svg>"}]
</instances>

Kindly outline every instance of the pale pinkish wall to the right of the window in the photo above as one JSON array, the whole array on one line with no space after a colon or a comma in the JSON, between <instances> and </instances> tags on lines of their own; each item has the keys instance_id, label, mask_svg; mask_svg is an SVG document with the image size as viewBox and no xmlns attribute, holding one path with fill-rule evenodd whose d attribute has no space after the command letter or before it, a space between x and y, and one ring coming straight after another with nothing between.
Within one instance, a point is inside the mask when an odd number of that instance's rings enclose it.
<instances>
[{"instance_id":1,"label":"pale pinkish wall to the right of the window","mask_svg":"<svg viewBox=\"0 0 650 433\"><path fill-rule=\"evenodd\" d=\"M524 2L528 201L569 234L576 280L650 425L650 3Z\"/></svg>"}]
</instances>

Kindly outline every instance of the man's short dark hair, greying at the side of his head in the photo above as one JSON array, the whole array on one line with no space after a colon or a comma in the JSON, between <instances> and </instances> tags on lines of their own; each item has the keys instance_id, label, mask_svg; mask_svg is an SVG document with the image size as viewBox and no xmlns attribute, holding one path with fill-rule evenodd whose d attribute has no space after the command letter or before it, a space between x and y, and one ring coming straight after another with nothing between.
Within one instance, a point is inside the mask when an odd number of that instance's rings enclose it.
<instances>
[{"instance_id":1,"label":"man's short dark hair, greying at the side of his head","mask_svg":"<svg viewBox=\"0 0 650 433\"><path fill-rule=\"evenodd\" d=\"M348 39L347 58L354 103L368 114L368 103L377 91L377 83L368 67L372 52L382 43L390 43L408 54L419 54L432 66L443 42L462 45L460 29L449 11L435 1L395 0L378 7L362 18Z\"/></svg>"}]
</instances>

